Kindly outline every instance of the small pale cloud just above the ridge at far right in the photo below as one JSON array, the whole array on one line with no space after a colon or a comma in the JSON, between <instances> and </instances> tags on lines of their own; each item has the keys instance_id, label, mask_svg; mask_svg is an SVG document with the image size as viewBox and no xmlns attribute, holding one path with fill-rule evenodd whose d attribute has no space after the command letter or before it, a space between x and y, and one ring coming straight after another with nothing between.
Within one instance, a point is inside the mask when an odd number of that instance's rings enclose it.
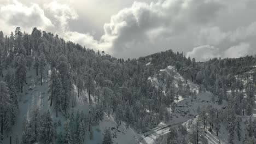
<instances>
[{"instance_id":1,"label":"small pale cloud just above the ridge at far right","mask_svg":"<svg viewBox=\"0 0 256 144\"><path fill-rule=\"evenodd\" d=\"M228 50L224 52L223 57L232 57L232 58L238 58L243 57L249 54L251 47L247 43L240 43L236 46L231 46Z\"/></svg>"}]
</instances>

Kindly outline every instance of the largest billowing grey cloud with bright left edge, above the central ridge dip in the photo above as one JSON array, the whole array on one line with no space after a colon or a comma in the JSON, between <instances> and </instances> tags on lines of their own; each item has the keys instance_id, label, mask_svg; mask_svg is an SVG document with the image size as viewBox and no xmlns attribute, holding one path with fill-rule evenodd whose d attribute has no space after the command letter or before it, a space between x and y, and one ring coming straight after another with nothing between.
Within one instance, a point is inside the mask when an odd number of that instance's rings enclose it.
<instances>
[{"instance_id":1,"label":"largest billowing grey cloud with bright left edge, above the central ridge dip","mask_svg":"<svg viewBox=\"0 0 256 144\"><path fill-rule=\"evenodd\" d=\"M131 57L127 55L130 51L145 55L166 50L168 43L181 45L175 44L174 39L183 37L191 26L210 22L210 17L214 17L220 8L222 4L216 1L202 0L134 2L105 23L102 41L113 44L109 52L115 56Z\"/></svg>"}]
</instances>

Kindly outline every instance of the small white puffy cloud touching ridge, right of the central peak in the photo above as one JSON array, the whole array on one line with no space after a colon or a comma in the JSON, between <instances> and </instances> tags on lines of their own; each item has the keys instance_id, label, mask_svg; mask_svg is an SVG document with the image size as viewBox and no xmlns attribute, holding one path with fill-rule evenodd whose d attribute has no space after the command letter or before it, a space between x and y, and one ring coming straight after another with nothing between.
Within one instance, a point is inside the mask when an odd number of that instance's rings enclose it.
<instances>
[{"instance_id":1,"label":"small white puffy cloud touching ridge, right of the central peak","mask_svg":"<svg viewBox=\"0 0 256 144\"><path fill-rule=\"evenodd\" d=\"M187 57L193 57L197 61L204 62L209 59L220 57L219 49L210 45L194 47L191 52L187 52Z\"/></svg>"}]
</instances>

